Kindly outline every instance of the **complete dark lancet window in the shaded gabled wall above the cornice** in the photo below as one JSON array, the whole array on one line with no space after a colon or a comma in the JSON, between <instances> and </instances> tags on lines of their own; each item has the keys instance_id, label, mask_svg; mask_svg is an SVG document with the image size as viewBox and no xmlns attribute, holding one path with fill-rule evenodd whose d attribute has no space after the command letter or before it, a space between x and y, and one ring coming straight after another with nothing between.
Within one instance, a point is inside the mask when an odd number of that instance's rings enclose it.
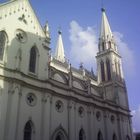
<instances>
[{"instance_id":1,"label":"complete dark lancet window in the shaded gabled wall above the cornice","mask_svg":"<svg viewBox=\"0 0 140 140\"><path fill-rule=\"evenodd\" d=\"M30 61L29 61L29 71L32 73L36 73L37 59L38 59L38 51L37 48L34 46L30 50Z\"/></svg>"}]
</instances>

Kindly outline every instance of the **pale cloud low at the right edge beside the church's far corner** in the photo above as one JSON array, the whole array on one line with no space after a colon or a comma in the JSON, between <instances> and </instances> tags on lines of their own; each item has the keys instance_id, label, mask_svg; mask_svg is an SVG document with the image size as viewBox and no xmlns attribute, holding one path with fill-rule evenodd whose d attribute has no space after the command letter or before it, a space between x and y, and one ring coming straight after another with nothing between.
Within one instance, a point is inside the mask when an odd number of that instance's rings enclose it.
<instances>
[{"instance_id":1,"label":"pale cloud low at the right edge beside the church's far corner","mask_svg":"<svg viewBox=\"0 0 140 140\"><path fill-rule=\"evenodd\" d=\"M140 131L140 106L136 109L132 111L132 121L133 121L133 130L135 132L139 132Z\"/></svg>"}]
</instances>

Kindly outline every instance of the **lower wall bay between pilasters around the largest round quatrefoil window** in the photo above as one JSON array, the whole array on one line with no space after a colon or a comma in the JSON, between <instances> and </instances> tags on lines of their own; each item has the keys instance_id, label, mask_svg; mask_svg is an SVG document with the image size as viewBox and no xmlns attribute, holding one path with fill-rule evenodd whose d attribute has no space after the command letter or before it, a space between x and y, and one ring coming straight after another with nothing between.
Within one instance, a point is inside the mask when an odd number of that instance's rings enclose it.
<instances>
[{"instance_id":1,"label":"lower wall bay between pilasters around the largest round quatrefoil window","mask_svg":"<svg viewBox=\"0 0 140 140\"><path fill-rule=\"evenodd\" d=\"M33 93L36 96L36 105L28 105L27 94ZM18 138L23 137L24 127L27 121L33 122L33 136L35 140L40 139L41 136L41 119L42 119L42 93L35 89L22 88L22 98L20 103L20 115L19 115L19 132Z\"/></svg>"}]
</instances>

